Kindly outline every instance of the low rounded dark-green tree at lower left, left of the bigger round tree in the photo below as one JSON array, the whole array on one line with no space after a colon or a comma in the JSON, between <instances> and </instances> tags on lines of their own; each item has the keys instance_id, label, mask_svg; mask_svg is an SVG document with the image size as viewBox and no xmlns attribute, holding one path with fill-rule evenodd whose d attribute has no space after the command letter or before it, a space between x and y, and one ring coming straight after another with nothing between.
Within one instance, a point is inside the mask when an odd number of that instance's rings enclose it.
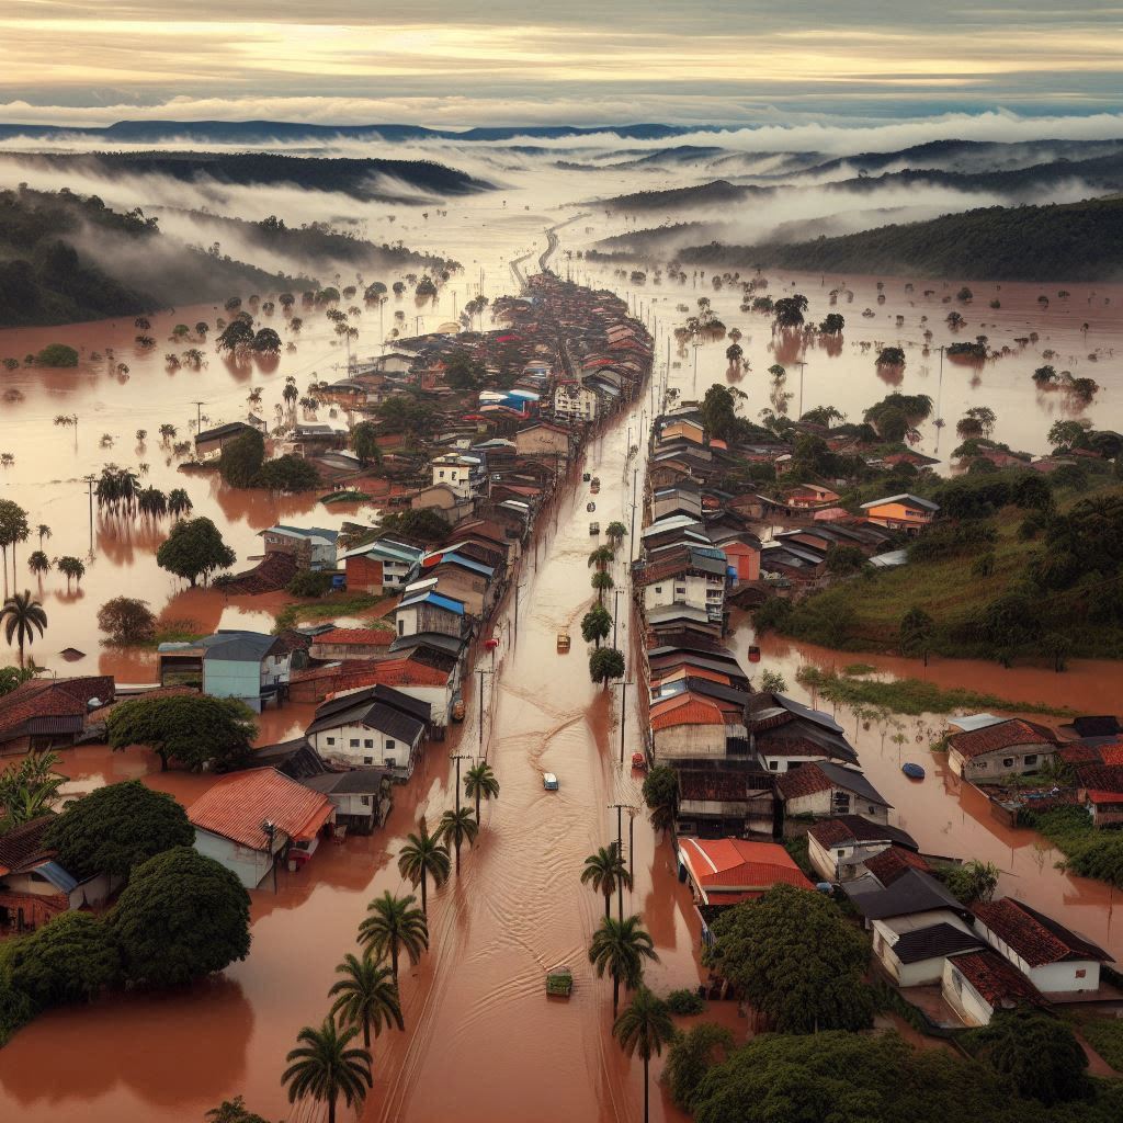
<instances>
[{"instance_id":1,"label":"low rounded dark-green tree at lower left, left of the bigger round tree","mask_svg":"<svg viewBox=\"0 0 1123 1123\"><path fill-rule=\"evenodd\" d=\"M117 948L91 913L67 912L9 950L11 983L39 1007L89 1002L120 979Z\"/></svg>"}]
</instances>

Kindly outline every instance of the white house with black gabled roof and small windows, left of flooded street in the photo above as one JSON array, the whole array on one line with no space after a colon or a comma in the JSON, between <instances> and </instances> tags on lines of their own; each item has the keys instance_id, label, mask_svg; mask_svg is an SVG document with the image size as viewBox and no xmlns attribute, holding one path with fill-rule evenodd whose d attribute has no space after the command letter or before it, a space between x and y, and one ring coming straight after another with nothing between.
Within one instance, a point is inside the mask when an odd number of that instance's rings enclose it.
<instances>
[{"instance_id":1,"label":"white house with black gabled roof and small windows, left of flooded street","mask_svg":"<svg viewBox=\"0 0 1123 1123\"><path fill-rule=\"evenodd\" d=\"M428 702L376 685L323 702L305 736L325 760L409 779L430 719Z\"/></svg>"}]
</instances>

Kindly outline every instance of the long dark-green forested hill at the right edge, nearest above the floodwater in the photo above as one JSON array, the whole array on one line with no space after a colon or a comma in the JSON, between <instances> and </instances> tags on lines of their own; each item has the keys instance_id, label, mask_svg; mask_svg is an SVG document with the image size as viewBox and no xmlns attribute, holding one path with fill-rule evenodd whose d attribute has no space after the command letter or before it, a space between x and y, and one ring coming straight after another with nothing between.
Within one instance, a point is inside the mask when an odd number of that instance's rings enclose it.
<instances>
[{"instance_id":1,"label":"long dark-green forested hill at the right edge, nearest above the floodwater","mask_svg":"<svg viewBox=\"0 0 1123 1123\"><path fill-rule=\"evenodd\" d=\"M1123 279L1123 197L1051 207L987 207L837 238L694 246L684 265L888 273L965 281Z\"/></svg>"}]
</instances>

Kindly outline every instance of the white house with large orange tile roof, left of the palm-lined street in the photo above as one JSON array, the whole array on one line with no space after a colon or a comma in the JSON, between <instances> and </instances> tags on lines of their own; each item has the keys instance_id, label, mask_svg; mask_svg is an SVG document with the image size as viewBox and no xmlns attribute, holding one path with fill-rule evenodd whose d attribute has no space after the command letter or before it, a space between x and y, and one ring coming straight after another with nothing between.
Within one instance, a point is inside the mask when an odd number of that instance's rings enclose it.
<instances>
[{"instance_id":1,"label":"white house with large orange tile roof, left of the palm-lined street","mask_svg":"<svg viewBox=\"0 0 1123 1123\"><path fill-rule=\"evenodd\" d=\"M247 889L257 888L285 851L289 861L307 861L335 815L327 796L275 768L223 776L188 807L195 849L237 874Z\"/></svg>"}]
</instances>

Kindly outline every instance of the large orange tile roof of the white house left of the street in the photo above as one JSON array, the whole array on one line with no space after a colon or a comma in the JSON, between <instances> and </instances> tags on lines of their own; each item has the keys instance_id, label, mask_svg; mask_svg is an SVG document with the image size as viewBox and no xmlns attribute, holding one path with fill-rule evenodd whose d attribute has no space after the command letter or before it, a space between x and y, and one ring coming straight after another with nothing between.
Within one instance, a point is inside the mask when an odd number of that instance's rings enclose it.
<instances>
[{"instance_id":1,"label":"large orange tile roof of the white house left of the street","mask_svg":"<svg viewBox=\"0 0 1123 1123\"><path fill-rule=\"evenodd\" d=\"M266 820L291 839L311 839L331 818L331 801L282 776L275 768L223 776L190 807L192 827L221 834L252 850L267 850Z\"/></svg>"}]
</instances>

